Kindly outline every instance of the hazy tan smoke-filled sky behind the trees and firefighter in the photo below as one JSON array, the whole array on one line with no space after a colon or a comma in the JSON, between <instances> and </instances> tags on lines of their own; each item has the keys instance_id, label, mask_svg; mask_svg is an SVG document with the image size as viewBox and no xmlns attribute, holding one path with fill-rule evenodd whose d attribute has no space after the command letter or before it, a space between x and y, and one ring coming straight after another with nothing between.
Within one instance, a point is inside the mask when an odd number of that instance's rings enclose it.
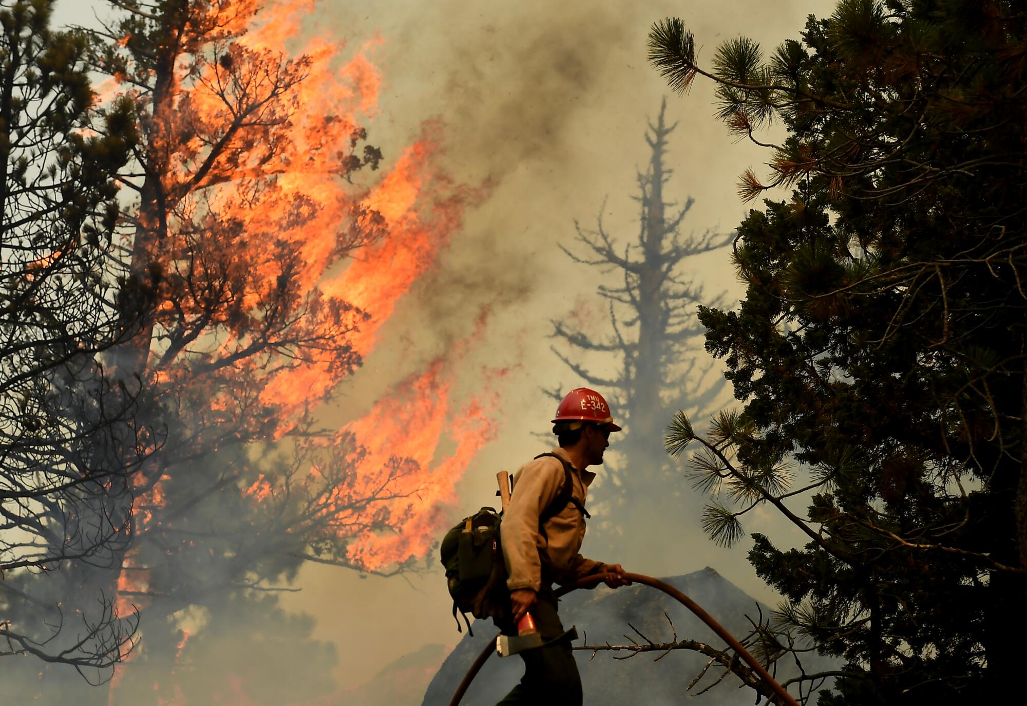
<instances>
[{"instance_id":1,"label":"hazy tan smoke-filled sky behind the trees and firefighter","mask_svg":"<svg viewBox=\"0 0 1027 706\"><path fill-rule=\"evenodd\" d=\"M467 511L492 504L496 471L512 471L546 450L531 436L546 429L551 412L541 386L579 383L549 351L549 318L582 306L602 311L595 294L598 273L571 265L557 244L570 245L574 220L594 221L607 196L609 230L635 236L637 208L630 196L636 169L648 158L646 119L659 110L660 100L670 97L668 118L679 121L671 138L675 176L664 193L695 199L686 232L732 230L747 211L735 195L738 175L749 166L765 172L768 155L735 142L712 117L709 83L698 79L690 94L673 96L647 66L651 24L681 16L702 47L701 61L739 34L771 50L797 37L808 13L827 14L833 5L831 0L318 2L310 31L346 41L347 51L375 37L382 40L372 53L383 74L380 113L368 128L369 141L382 147L386 160L417 137L424 120L436 119L446 169L460 181L491 179L495 185L489 199L468 213L436 270L402 302L382 330L379 348L326 418L341 423L366 410L373 395L468 335L479 308L490 307L484 340L466 365L468 370L514 366L514 372L497 387L502 417L496 440L459 489ZM91 6L107 13L96 0L62 0L58 21L90 22ZM741 293L726 251L690 264L689 273L711 294L726 292L729 301ZM603 318L597 313L592 324L599 330ZM479 380L469 375L465 384ZM600 470L596 501L602 491ZM769 514L755 515L746 526L784 545L797 541ZM750 595L776 601L745 561L748 542L719 549L702 536L697 517L693 527L692 535L651 556L596 558L657 575L711 565ZM640 544L650 543L654 530L658 526L625 528L639 533ZM587 550L586 537L582 551L588 555ZM436 564L434 556L429 563ZM337 644L340 681L357 685L425 644L456 642L444 583L434 571L383 580L314 566L300 575L302 592L283 601L316 616L316 635Z\"/></svg>"}]
</instances>

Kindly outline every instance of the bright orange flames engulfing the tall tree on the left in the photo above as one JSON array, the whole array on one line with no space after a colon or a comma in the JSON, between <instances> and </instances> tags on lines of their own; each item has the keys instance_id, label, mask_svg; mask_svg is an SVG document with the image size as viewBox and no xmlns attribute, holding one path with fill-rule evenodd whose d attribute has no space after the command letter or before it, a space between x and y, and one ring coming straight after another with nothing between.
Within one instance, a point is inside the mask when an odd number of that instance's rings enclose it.
<instances>
[{"instance_id":1,"label":"bright orange flames engulfing the tall tree on the left","mask_svg":"<svg viewBox=\"0 0 1027 706\"><path fill-rule=\"evenodd\" d=\"M227 20L219 15L219 32L228 38L224 61L202 66L198 78L182 67L174 119L188 118L200 125L231 122L220 86L225 85L232 62L297 55L292 45L300 43L303 17L313 10L314 1L272 0L261 12L259 0L211 3L211 11L223 12L226 6L233 10ZM400 300L435 265L460 226L464 210L487 195L484 189L455 185L435 168L441 150L435 124L426 125L421 138L400 154L377 184L353 193L353 187L345 183L348 173L340 166L340 155L349 154L356 143L357 116L370 118L378 110L382 78L372 57L380 44L380 38L367 42L340 67L341 43L324 37L306 41L299 52L304 59L296 64L302 66L305 78L293 86L292 98L275 118L283 121L276 125L288 125L288 144L266 160L240 149L234 161L211 169L198 187L201 196L183 198L180 212L174 215L183 223L202 226L190 235L207 237L199 244L202 248L231 250L224 261L249 277L239 294L241 311L254 309L273 292L281 272L279 255L288 250L286 246L295 248L299 283L304 293L318 293L315 305L352 307L345 308L349 312L345 321L352 329L339 335L364 358L374 350L381 326ZM245 51L251 53L243 55ZM101 89L105 97L113 97L110 85ZM196 174L208 149L197 134L168 129L162 138L174 161L167 177L173 183L163 185L165 191L174 192ZM354 259L342 267L346 248L340 224L354 218L357 229L373 220L382 235L356 251ZM205 227L212 222L238 224L238 233L232 235L235 239L222 243L217 234L208 235L217 233ZM172 269L189 258L193 245L187 236L178 239L167 258ZM174 317L180 305L165 302L158 308L158 318ZM327 324L315 321L314 325L321 328L309 332L311 336L332 333ZM483 315L473 335L396 385L367 416L339 431L334 439L337 446L355 440L363 450L350 457L355 463L355 486L312 489L328 469L310 470L305 487L315 495L320 493L316 495L317 519L336 532L352 565L378 570L423 557L448 524L457 482L495 433L490 418L494 400L488 386L468 400L457 400L454 393L456 365L481 338L484 326ZM205 345L204 352L211 357L229 358L248 345L246 332L233 328L227 317L214 322L211 331L196 339L194 351ZM155 384L174 388L187 384L183 370L167 364L150 374ZM290 419L327 397L349 372L331 360L304 360L272 373L264 373L254 363L253 371L265 375L258 395L279 421L271 435L274 439L287 434ZM211 419L235 412L230 394L213 392L203 400L203 413ZM157 510L165 500L163 480L146 481L137 488L139 531L156 529L159 524ZM280 482L270 474L251 476L237 490L257 507L275 500ZM382 489L373 505L354 508L347 501L366 496L368 488ZM382 531L384 525L391 531ZM354 533L354 526L363 529ZM136 558L134 552L126 555L117 582L122 615L128 615L134 604L141 608L149 604L145 597L123 595L150 588L150 574L134 565ZM184 632L176 662L188 639ZM230 682L225 702L249 703L241 682ZM213 703L223 703L223 696L213 696ZM178 703L180 698L176 695L166 703Z\"/></svg>"}]
</instances>

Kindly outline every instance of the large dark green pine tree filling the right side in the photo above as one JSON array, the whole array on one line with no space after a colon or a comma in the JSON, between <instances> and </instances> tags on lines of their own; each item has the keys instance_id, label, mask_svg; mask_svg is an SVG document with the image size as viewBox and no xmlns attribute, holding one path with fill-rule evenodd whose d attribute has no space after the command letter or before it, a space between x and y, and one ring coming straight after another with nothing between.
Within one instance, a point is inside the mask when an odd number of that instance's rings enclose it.
<instances>
[{"instance_id":1,"label":"large dark green pine tree filling the right side","mask_svg":"<svg viewBox=\"0 0 1027 706\"><path fill-rule=\"evenodd\" d=\"M750 560L788 598L781 635L845 661L826 703L1006 698L1027 598L1027 102L1018 3L844 0L764 60L746 38L698 64L680 20L650 60L757 142L788 129L739 227L736 310L703 309L741 414L690 444L721 543L769 507L807 537ZM806 499L808 498L808 499ZM803 516L796 503L806 499ZM781 639L775 643L773 639Z\"/></svg>"}]
</instances>

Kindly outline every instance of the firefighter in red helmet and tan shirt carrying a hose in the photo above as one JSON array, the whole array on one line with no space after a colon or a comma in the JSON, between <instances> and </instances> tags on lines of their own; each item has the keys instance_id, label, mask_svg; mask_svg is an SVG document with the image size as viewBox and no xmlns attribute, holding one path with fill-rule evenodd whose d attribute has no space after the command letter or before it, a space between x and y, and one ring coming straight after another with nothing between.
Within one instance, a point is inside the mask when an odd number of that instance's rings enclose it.
<instances>
[{"instance_id":1,"label":"firefighter in red helmet and tan shirt carrying a hose","mask_svg":"<svg viewBox=\"0 0 1027 706\"><path fill-rule=\"evenodd\" d=\"M619 431L602 395L587 387L572 389L553 419L559 445L514 476L514 494L500 528L512 616L499 621L499 627L516 635L518 622L530 612L542 639L556 641L521 653L524 676L499 706L581 704L581 677L570 641L556 639L564 628L553 584L600 572L606 573L610 588L631 584L620 564L579 553L588 517L584 504L596 477L586 469L603 462L610 434Z\"/></svg>"}]
</instances>

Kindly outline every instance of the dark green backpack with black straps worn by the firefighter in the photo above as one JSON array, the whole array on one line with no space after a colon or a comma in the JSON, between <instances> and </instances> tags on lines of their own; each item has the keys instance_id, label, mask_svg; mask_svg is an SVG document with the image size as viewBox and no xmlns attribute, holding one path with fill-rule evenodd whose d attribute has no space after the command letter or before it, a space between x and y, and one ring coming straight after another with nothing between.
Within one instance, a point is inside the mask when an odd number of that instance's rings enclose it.
<instances>
[{"instance_id":1,"label":"dark green backpack with black straps worn by the firefighter","mask_svg":"<svg viewBox=\"0 0 1027 706\"><path fill-rule=\"evenodd\" d=\"M588 517L585 509L572 495L571 465L555 453L541 453L535 458L543 456L553 456L563 463L564 485L539 515L539 526L571 503ZM506 589L506 566L499 537L501 519L502 513L482 508L470 517L463 518L443 537L443 566L446 567L446 583L453 598L453 619L459 632L463 629L460 619L456 617L458 610L471 635L474 633L467 620L468 612L479 619L502 618L509 614L510 594Z\"/></svg>"}]
</instances>

